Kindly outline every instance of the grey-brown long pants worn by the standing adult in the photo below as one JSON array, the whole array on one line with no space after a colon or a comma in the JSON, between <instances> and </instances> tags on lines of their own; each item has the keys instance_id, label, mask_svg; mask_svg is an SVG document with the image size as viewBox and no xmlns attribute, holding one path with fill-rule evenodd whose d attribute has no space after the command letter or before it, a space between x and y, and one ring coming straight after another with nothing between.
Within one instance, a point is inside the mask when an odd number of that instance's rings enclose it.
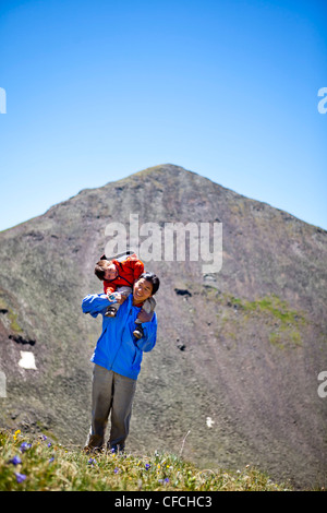
<instances>
[{"instance_id":1,"label":"grey-brown long pants worn by the standing adult","mask_svg":"<svg viewBox=\"0 0 327 513\"><path fill-rule=\"evenodd\" d=\"M100 449L111 413L108 449L122 451L130 430L136 380L95 363L93 370L92 423L86 448Z\"/></svg>"}]
</instances>

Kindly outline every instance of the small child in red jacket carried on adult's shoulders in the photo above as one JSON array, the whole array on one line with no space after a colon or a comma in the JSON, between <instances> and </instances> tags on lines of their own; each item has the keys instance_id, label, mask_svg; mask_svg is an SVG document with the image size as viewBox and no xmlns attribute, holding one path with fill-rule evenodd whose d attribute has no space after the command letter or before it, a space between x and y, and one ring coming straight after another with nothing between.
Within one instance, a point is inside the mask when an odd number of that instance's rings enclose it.
<instances>
[{"instance_id":1,"label":"small child in red jacket carried on adult's shoulders","mask_svg":"<svg viewBox=\"0 0 327 513\"><path fill-rule=\"evenodd\" d=\"M108 296L109 301L116 301L114 293L119 293L123 298L130 296L133 290L134 282L144 273L144 263L132 252L122 253L110 260L104 254L97 262L94 272L96 276L104 282L104 291ZM107 308L105 315L116 317L119 307L120 303L114 302ZM146 313L154 313L155 308L156 301L153 297L149 297L143 303L143 309ZM133 335L136 338L142 338L144 335L142 323L136 319L135 324L137 324L137 326Z\"/></svg>"}]
</instances>

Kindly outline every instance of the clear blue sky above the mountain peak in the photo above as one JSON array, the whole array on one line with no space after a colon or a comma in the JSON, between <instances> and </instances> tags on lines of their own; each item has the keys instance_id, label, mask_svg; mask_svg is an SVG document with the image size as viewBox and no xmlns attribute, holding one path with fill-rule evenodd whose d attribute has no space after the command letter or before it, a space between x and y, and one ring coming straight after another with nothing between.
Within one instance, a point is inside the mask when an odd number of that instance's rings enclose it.
<instances>
[{"instance_id":1,"label":"clear blue sky above the mountain peak","mask_svg":"<svg viewBox=\"0 0 327 513\"><path fill-rule=\"evenodd\" d=\"M166 163L327 229L326 0L1 0L0 87L0 230Z\"/></svg>"}]
</instances>

